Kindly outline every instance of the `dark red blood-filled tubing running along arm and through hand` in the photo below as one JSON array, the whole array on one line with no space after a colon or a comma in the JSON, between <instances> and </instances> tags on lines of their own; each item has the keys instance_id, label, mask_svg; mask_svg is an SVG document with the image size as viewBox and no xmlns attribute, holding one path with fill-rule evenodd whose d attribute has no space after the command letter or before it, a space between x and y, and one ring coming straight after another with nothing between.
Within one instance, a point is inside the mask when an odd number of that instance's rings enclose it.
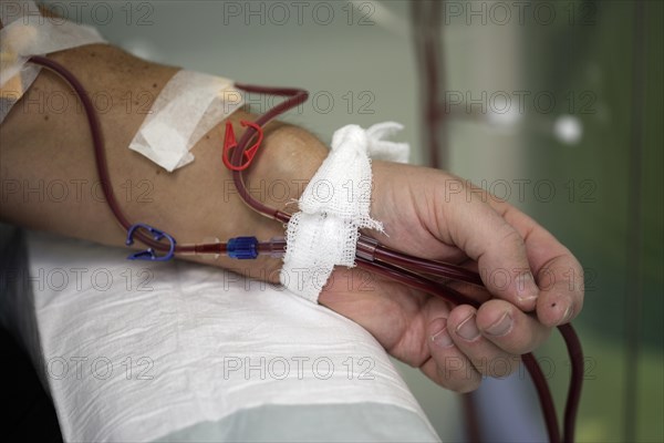
<instances>
[{"instance_id":1,"label":"dark red blood-filled tubing running along arm and through hand","mask_svg":"<svg viewBox=\"0 0 664 443\"><path fill-rule=\"evenodd\" d=\"M104 196L117 222L123 226L124 229L129 229L132 224L128 222L128 219L122 212L115 198L115 194L113 193L113 189L111 187L111 179L108 177L108 166L106 163L106 156L104 152L104 141L102 137L98 119L94 111L94 106L92 105L92 102L90 101L85 92L85 89L81 85L79 80L71 72L69 72L61 64L50 59L35 55L30 58L29 61L41 66L48 68L58 73L61 78L63 78L63 80L65 80L71 85L71 87L73 87L73 90L80 97L83 107L85 109L85 114L90 124L90 131L92 133L96 171L102 183ZM236 86L247 92L258 92L263 94L272 94L288 97L282 103L274 106L256 121L256 123L261 127L264 126L276 116L280 115L281 113L303 103L309 96L309 93L307 91L299 89L274 89L252 86L246 84L236 84ZM249 145L249 142L256 135L256 133L257 132L253 128L249 128L245 132L245 134L240 138L240 142L238 143L238 147L234 151L234 155L231 158L231 162L234 164L239 164L243 152L246 151L247 146ZM263 205L262 203L255 199L249 194L248 189L245 187L242 172L234 171L232 177L240 197L247 205L252 207L258 213L263 214L270 218L273 218L281 223L288 223L288 220L290 219L289 214L270 208L269 206ZM165 250L168 248L167 245L155 241L151 237L139 231L136 231L135 238L157 250ZM272 240L261 243L259 245L259 251L261 254L274 254L279 250L283 250L284 248L284 240ZM206 245L179 245L176 246L175 253L225 254L226 244L217 243ZM436 282L435 280L428 279L419 274L429 274L435 275L437 277L445 277L470 282L474 285L481 285L481 279L477 274L460 268L458 266L412 257L406 254L386 248L366 236L361 236L361 240L357 247L356 262L360 268L367 269L372 272L382 275L387 278L392 278L396 281L419 289L427 293L437 297L443 297L455 305L471 305L476 308L479 306L477 301L470 299L469 297L464 296L463 293L449 287L445 287ZM577 411L581 395L581 383L583 378L583 353L581 350L581 343L579 342L579 338L577 337L571 324L560 326L559 330L563 339L566 340L568 352L570 354L570 360L572 362L571 382L564 414L564 441L573 442L574 422L577 418ZM532 381L537 388L540 398L540 403L542 406L542 413L547 423L549 439L552 443L558 443L560 441L558 420L556 416L556 411L553 408L551 393L547 385L547 381L543 374L541 373L537 360L535 360L535 357L532 357L531 353L523 354L522 361L523 364L527 367L530 375L532 377Z\"/></svg>"}]
</instances>

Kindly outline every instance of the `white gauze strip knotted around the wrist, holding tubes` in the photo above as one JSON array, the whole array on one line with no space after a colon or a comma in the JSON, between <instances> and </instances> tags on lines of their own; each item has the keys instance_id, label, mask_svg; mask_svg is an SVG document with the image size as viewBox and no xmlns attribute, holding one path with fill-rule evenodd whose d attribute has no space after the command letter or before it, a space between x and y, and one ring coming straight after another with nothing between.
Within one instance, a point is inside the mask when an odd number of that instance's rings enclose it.
<instances>
[{"instance_id":1,"label":"white gauze strip knotted around the wrist, holding tubes","mask_svg":"<svg viewBox=\"0 0 664 443\"><path fill-rule=\"evenodd\" d=\"M335 265L355 266L361 228L383 231L370 216L371 159L406 163L409 146L385 141L403 126L378 123L369 130L347 125L334 133L328 158L300 197L300 212L287 228L281 284L310 301L318 297Z\"/></svg>"}]
</instances>

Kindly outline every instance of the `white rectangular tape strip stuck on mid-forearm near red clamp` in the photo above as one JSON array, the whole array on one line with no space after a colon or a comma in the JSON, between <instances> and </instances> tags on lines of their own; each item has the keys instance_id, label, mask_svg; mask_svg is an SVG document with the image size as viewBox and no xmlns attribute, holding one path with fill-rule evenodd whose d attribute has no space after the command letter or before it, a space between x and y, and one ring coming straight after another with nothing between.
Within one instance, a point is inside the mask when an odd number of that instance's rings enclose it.
<instances>
[{"instance_id":1,"label":"white rectangular tape strip stuck on mid-forearm near red clamp","mask_svg":"<svg viewBox=\"0 0 664 443\"><path fill-rule=\"evenodd\" d=\"M242 104L232 81L178 71L157 96L129 150L173 172L191 163L191 147Z\"/></svg>"}]
</instances>

